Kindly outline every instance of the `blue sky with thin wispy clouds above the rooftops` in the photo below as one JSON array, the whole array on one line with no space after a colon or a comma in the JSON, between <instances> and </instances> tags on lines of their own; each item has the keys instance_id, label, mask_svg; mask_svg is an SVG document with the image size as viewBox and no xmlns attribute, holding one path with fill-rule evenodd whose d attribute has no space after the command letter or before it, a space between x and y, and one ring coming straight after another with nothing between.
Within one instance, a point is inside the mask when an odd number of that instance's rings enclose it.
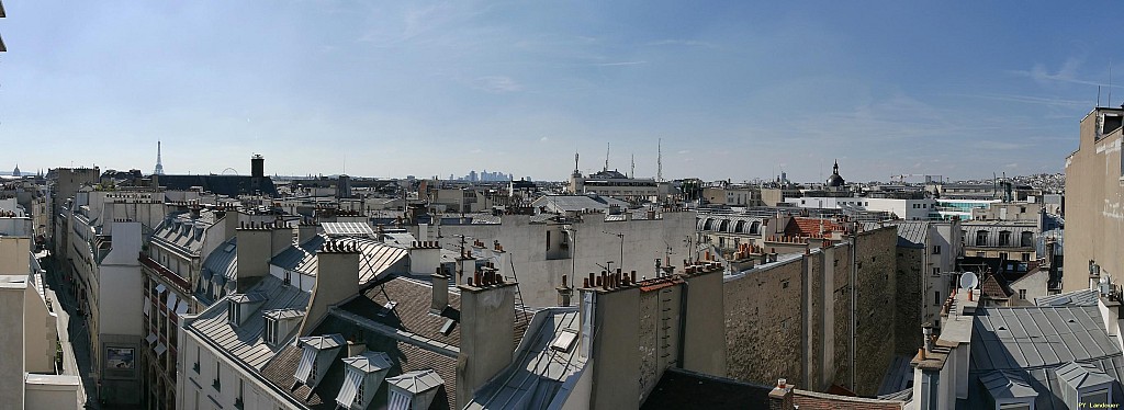
<instances>
[{"instance_id":1,"label":"blue sky with thin wispy clouds above the rooftops","mask_svg":"<svg viewBox=\"0 0 1124 410\"><path fill-rule=\"evenodd\" d=\"M1061 172L1116 3L7 0L0 168ZM1115 56L1124 85L1124 58ZM1113 106L1124 102L1114 85Z\"/></svg>"}]
</instances>

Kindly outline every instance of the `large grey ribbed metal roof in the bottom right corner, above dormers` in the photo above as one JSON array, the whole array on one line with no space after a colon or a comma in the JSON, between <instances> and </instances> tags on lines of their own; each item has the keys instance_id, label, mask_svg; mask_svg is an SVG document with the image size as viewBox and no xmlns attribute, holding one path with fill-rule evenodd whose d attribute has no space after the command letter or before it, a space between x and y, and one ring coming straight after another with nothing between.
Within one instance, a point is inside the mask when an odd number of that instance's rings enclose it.
<instances>
[{"instance_id":1,"label":"large grey ribbed metal roof in the bottom right corner, above dormers","mask_svg":"<svg viewBox=\"0 0 1124 410\"><path fill-rule=\"evenodd\" d=\"M1039 410L1067 409L1062 381L1055 370L1070 363L1090 364L1108 377L1124 375L1124 355L1105 331L1099 308L1031 307L984 308L976 311L972 324L971 359L968 400L960 408L986 406L982 376L995 371L1026 374L1026 381L1039 394ZM1120 389L1114 389L1120 390ZM1121 394L1113 394L1118 401Z\"/></svg>"}]
</instances>

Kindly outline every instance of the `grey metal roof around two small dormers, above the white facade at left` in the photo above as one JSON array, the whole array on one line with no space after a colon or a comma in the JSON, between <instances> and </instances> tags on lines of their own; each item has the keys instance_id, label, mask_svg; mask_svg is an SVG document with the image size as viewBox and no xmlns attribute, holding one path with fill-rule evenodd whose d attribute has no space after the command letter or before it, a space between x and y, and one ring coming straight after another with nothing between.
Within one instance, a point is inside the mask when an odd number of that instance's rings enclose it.
<instances>
[{"instance_id":1,"label":"grey metal roof around two small dormers, above the white facade at left","mask_svg":"<svg viewBox=\"0 0 1124 410\"><path fill-rule=\"evenodd\" d=\"M268 298L262 303L263 311L308 307L307 292L296 286L288 286L271 275L265 276L251 291L262 292ZM278 343L273 347L265 344L262 338L265 319L262 315L250 315L242 325L232 326L226 318L228 307L229 303L211 304L199 315L198 319L189 324L185 330L214 341L246 365L262 370L285 344Z\"/></svg>"}]
</instances>

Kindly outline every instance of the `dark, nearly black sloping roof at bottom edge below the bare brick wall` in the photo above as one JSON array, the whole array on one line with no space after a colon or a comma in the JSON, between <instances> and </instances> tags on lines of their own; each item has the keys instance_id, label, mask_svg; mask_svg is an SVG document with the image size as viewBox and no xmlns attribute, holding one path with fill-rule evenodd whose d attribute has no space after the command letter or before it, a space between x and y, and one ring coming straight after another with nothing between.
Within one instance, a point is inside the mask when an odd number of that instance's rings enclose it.
<instances>
[{"instance_id":1,"label":"dark, nearly black sloping roof at bottom edge below the bare brick wall","mask_svg":"<svg viewBox=\"0 0 1124 410\"><path fill-rule=\"evenodd\" d=\"M772 386L669 367L641 409L768 409L771 391Z\"/></svg>"}]
</instances>

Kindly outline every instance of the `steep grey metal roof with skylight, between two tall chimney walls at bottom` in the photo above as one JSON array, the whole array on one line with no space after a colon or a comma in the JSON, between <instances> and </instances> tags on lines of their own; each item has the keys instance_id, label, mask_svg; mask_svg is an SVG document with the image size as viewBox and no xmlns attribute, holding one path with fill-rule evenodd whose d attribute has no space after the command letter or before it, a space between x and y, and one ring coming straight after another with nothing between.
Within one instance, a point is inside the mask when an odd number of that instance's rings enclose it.
<instances>
[{"instance_id":1,"label":"steep grey metal roof with skylight, between two tall chimney walls at bottom","mask_svg":"<svg viewBox=\"0 0 1124 410\"><path fill-rule=\"evenodd\" d=\"M515 361L481 388L465 409L541 409L555 397L569 394L563 384L579 374L586 359L578 354L577 343L566 350L551 345L560 335L577 335L579 327L577 308L536 312Z\"/></svg>"}]
</instances>

